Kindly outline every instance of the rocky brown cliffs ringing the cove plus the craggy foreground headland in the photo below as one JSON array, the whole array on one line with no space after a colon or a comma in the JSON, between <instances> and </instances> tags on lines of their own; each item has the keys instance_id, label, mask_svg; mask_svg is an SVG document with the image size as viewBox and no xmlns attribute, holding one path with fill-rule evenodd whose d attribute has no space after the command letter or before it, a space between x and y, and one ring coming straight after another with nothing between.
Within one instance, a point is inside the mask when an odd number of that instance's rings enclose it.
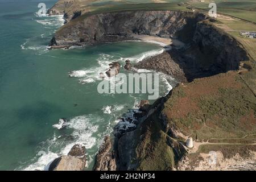
<instances>
[{"instance_id":1,"label":"rocky brown cliffs ringing the cove plus the craggy foreground headland","mask_svg":"<svg viewBox=\"0 0 256 182\"><path fill-rule=\"evenodd\" d=\"M70 47L136 40L134 34L177 38L185 43L183 48L172 47L134 65L135 68L154 69L171 75L180 81L177 86L198 78L236 71L242 61L249 60L241 44L214 27L207 16L181 11L129 11L79 18L72 22L72 26L67 24L57 31L50 46ZM109 71L115 69L116 75L119 66L113 63ZM130 68L130 62L127 61L126 69ZM122 131L117 128L113 139L104 139L96 156L94 170L185 169L182 162L186 161L188 150L177 142L185 135L179 126L171 125L163 114L170 97L175 97L172 90L152 105L141 102L138 112L134 112L136 126ZM145 151L146 148L151 151ZM147 166L145 155L154 160L160 159L159 164ZM167 163L167 160L174 162Z\"/></svg>"}]
</instances>

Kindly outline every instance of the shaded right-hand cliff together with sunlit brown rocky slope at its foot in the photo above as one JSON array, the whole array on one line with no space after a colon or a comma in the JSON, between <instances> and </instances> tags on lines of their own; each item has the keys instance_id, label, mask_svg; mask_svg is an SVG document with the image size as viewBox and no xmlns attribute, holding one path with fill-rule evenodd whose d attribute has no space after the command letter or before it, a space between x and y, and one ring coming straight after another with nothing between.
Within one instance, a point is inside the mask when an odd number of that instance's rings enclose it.
<instances>
[{"instance_id":1,"label":"shaded right-hand cliff together with sunlit brown rocky slope at its foot","mask_svg":"<svg viewBox=\"0 0 256 182\"><path fill-rule=\"evenodd\" d=\"M208 77L230 70L237 70L240 61L247 61L247 53L236 39L214 27L209 20L197 22L192 27L189 38L184 40L187 46L183 49L172 49L162 55L150 57L135 67L155 69L172 75L179 81L192 81L194 78ZM180 37L177 32L177 38Z\"/></svg>"}]
</instances>

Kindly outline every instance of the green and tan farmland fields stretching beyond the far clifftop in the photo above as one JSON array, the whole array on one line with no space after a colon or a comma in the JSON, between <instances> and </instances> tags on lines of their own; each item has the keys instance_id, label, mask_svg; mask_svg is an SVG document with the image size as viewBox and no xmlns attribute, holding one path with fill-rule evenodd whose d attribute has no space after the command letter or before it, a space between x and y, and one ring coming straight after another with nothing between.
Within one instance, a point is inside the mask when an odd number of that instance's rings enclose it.
<instances>
[{"instance_id":1,"label":"green and tan farmland fields stretching beyond the far clifftop","mask_svg":"<svg viewBox=\"0 0 256 182\"><path fill-rule=\"evenodd\" d=\"M65 3L72 3L72 6L66 7ZM55 9L65 10L72 14L75 10L81 10L82 13L97 11L98 13L106 11L125 11L125 10L188 10L190 6L200 11L209 10L210 0L185 1L185 0L60 0ZM237 18L249 20L256 23L256 2L254 0L216 0L217 13L234 16ZM178 5L179 4L179 5Z\"/></svg>"}]
</instances>

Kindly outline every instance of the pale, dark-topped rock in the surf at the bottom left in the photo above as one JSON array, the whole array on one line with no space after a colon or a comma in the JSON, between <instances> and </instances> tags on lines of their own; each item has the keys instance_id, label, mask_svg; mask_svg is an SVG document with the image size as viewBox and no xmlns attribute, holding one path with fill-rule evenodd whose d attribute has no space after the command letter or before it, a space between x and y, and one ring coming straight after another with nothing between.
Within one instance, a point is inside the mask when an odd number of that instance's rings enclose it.
<instances>
[{"instance_id":1,"label":"pale, dark-topped rock in the surf at the bottom left","mask_svg":"<svg viewBox=\"0 0 256 182\"><path fill-rule=\"evenodd\" d=\"M49 171L82 171L86 165L86 150L84 146L76 144L68 155L53 160Z\"/></svg>"}]
</instances>

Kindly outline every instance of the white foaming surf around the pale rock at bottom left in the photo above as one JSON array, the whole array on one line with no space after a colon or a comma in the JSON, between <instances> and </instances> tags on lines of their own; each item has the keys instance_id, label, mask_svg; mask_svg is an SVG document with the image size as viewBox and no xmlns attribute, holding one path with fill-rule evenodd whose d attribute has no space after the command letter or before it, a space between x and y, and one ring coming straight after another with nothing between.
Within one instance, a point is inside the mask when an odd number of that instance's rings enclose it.
<instances>
[{"instance_id":1,"label":"white foaming surf around the pale rock at bottom left","mask_svg":"<svg viewBox=\"0 0 256 182\"><path fill-rule=\"evenodd\" d=\"M81 144L82 146L85 146L86 149L90 149L94 145L100 143L101 138L96 139L96 137L92 136L98 130L98 125L93 124L93 120L101 122L102 119L98 117L93 117L93 115L81 115L70 119L68 122L65 123L65 125L67 126L67 129L73 130L71 134L72 140L69 142L65 142L65 140L63 140L64 137L55 137L54 135L53 139L44 142L46 146L43 146L43 148L44 150L46 150L46 152L40 151L39 155L41 156L38 158L38 160L35 163L31 164L30 166L24 168L24 170L47 171L49 165L54 159L61 155L67 155L75 144ZM54 148L58 146L63 146L60 152L53 152L51 150L52 147ZM92 156L89 156L89 158L90 157ZM92 160L87 161L86 163L89 162L92 162Z\"/></svg>"}]
</instances>

